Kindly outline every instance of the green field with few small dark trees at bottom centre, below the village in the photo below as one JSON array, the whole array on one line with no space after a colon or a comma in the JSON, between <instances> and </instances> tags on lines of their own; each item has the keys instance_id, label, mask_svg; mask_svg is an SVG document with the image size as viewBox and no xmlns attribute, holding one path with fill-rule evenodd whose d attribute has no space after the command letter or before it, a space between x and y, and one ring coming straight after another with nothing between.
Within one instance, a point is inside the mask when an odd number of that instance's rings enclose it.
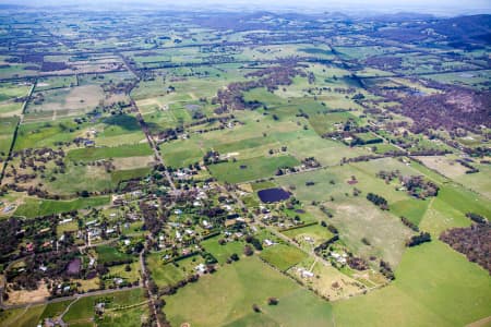
<instances>
[{"instance_id":1,"label":"green field with few small dark trees at bottom centre, below the village","mask_svg":"<svg viewBox=\"0 0 491 327\"><path fill-rule=\"evenodd\" d=\"M278 298L279 304L268 306L271 296ZM166 315L175 326L330 326L332 322L328 303L256 257L227 265L165 301ZM252 311L254 303L262 313Z\"/></svg>"}]
</instances>

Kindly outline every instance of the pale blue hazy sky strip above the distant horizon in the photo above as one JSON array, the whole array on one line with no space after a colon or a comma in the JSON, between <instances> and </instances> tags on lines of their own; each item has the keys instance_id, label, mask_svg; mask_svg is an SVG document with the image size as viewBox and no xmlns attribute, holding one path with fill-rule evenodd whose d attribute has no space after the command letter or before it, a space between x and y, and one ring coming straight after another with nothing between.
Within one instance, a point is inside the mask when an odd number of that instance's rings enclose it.
<instances>
[{"instance_id":1,"label":"pale blue hazy sky strip above the distant horizon","mask_svg":"<svg viewBox=\"0 0 491 327\"><path fill-rule=\"evenodd\" d=\"M490 13L491 0L0 0L0 3L26 5L76 4L104 9L116 3L137 3L145 8L248 9L344 12L422 12L442 15Z\"/></svg>"}]
</instances>

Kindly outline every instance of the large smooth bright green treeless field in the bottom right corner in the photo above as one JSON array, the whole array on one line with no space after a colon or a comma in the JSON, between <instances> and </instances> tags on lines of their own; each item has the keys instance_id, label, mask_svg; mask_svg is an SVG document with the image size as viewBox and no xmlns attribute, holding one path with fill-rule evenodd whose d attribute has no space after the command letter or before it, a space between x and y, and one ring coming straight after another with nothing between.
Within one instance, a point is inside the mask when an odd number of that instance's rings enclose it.
<instances>
[{"instance_id":1,"label":"large smooth bright green treeless field in the bottom right corner","mask_svg":"<svg viewBox=\"0 0 491 327\"><path fill-rule=\"evenodd\" d=\"M388 287L334 303L337 326L464 326L491 314L490 277L440 241L408 249Z\"/></svg>"}]
</instances>

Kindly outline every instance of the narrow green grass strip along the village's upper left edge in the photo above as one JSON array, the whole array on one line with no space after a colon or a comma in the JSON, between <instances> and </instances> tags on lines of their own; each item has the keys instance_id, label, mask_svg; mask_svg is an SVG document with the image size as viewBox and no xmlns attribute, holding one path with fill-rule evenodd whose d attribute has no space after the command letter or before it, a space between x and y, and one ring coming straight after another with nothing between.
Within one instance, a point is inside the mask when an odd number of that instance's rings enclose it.
<instances>
[{"instance_id":1,"label":"narrow green grass strip along the village's upper left edge","mask_svg":"<svg viewBox=\"0 0 491 327\"><path fill-rule=\"evenodd\" d=\"M37 199L26 197L15 210L15 216L34 218L109 204L109 196L76 198L72 201Z\"/></svg>"}]
</instances>

